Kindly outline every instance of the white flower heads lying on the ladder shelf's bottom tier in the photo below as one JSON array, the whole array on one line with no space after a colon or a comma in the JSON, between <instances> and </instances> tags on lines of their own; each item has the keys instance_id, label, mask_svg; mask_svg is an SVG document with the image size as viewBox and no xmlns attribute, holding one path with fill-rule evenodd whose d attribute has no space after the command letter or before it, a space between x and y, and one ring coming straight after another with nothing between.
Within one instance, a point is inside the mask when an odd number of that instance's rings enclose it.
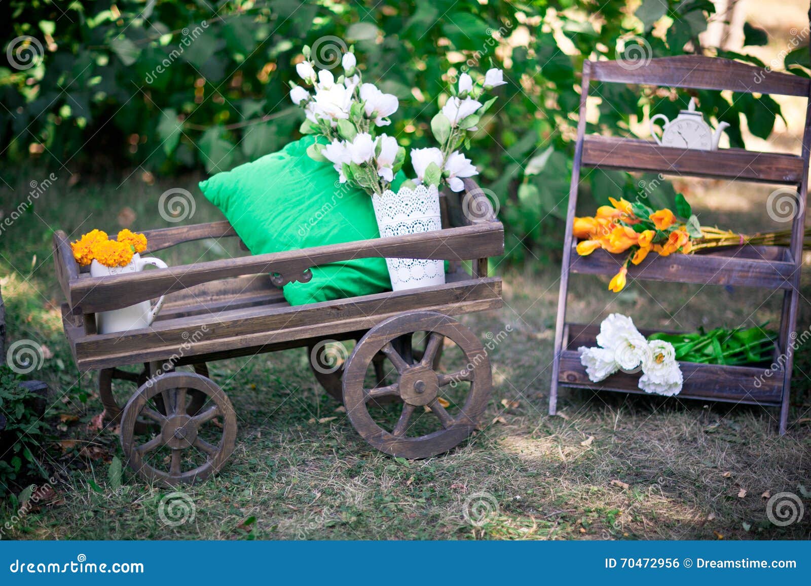
<instances>
[{"instance_id":1,"label":"white flower heads lying on the ladder shelf's bottom tier","mask_svg":"<svg viewBox=\"0 0 811 586\"><path fill-rule=\"evenodd\" d=\"M684 379L676 361L676 349L665 340L646 340L627 315L611 314L600 324L597 347L581 346L580 361L593 383L617 370L639 372L639 388L647 393L673 396Z\"/></svg>"}]
</instances>

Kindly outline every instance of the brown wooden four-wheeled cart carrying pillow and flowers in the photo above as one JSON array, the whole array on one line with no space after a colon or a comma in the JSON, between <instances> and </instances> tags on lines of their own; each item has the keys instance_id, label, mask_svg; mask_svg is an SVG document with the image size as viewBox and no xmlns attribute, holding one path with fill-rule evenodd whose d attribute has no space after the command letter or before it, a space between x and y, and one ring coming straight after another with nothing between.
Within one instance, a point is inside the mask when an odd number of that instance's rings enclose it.
<instances>
[{"instance_id":1,"label":"brown wooden four-wheeled cart carrying pillow and flowers","mask_svg":"<svg viewBox=\"0 0 811 586\"><path fill-rule=\"evenodd\" d=\"M450 316L501 306L501 280L487 276L487 259L503 253L504 230L474 182L440 201L443 229L434 232L96 278L80 271L66 233L56 232L65 333L79 370L100 371L101 400L121 423L131 468L169 485L216 473L234 451L238 417L208 377L206 362L298 347L311 352L319 382L343 400L358 434L380 451L426 458L468 437L487 406L491 368L477 336ZM151 253L202 238L237 237L224 221L145 234ZM448 260L447 282L307 306L291 307L282 297L281 286L310 280L311 267L367 257ZM466 260L471 274L461 263ZM97 312L161 295L165 303L151 327L97 333ZM424 345L416 343L416 332ZM358 340L342 369L319 364L315 350L325 340ZM452 372L440 368L447 340L464 355L465 366ZM122 368L139 364L142 373ZM178 370L184 365L194 372ZM384 379L387 369L391 383ZM122 405L114 388L127 383L131 396ZM445 408L440 399L450 387L463 387L466 396ZM391 429L373 414L387 401L402 405L389 419L396 420ZM429 410L438 429L414 434L414 413L423 417Z\"/></svg>"}]
</instances>

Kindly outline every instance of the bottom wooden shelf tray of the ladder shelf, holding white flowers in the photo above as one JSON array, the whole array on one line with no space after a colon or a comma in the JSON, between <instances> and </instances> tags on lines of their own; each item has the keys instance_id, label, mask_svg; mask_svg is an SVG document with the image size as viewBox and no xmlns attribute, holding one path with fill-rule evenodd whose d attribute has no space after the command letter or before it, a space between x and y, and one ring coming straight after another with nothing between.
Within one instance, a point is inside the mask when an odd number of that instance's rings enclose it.
<instances>
[{"instance_id":1,"label":"bottom wooden shelf tray of the ladder shelf, holding white flowers","mask_svg":"<svg viewBox=\"0 0 811 586\"><path fill-rule=\"evenodd\" d=\"M581 365L577 348L596 345L594 338L599 325L568 324L569 340L560 356L560 384L569 387L590 388L603 391L645 393L639 388L640 374L617 372L607 379L592 383L586 369ZM644 336L651 331L641 330ZM679 362L684 386L677 395L680 399L723 400L746 404L777 405L783 390L783 376L775 373L763 375L764 369L757 366L723 366Z\"/></svg>"}]
</instances>

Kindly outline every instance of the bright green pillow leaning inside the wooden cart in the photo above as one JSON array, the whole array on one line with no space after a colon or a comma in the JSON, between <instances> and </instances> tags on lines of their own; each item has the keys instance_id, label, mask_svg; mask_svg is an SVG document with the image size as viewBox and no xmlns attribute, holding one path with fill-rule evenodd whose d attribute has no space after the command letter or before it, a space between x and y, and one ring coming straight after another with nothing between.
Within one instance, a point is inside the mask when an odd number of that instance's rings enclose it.
<instances>
[{"instance_id":1,"label":"bright green pillow leaning inside the wooden cart","mask_svg":"<svg viewBox=\"0 0 811 586\"><path fill-rule=\"evenodd\" d=\"M337 182L328 162L307 156L312 136L200 182L254 255L380 237L371 198ZM308 283L284 288L291 306L392 289L385 259L312 268Z\"/></svg>"}]
</instances>

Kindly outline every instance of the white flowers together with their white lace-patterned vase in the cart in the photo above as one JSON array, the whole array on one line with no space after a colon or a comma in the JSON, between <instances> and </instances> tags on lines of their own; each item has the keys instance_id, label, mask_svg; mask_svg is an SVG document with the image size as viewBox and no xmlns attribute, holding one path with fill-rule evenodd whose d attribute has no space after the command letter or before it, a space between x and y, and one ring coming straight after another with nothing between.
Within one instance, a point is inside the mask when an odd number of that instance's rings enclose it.
<instances>
[{"instance_id":1,"label":"white flowers together with their white lace-patterned vase in the cart","mask_svg":"<svg viewBox=\"0 0 811 586\"><path fill-rule=\"evenodd\" d=\"M485 100L485 94L504 85L502 72L493 68L485 75L472 71L459 75L457 86L448 88L447 101L431 119L431 131L439 146L411 149L414 178L402 182L395 194L391 185L405 163L405 148L380 129L391 124L399 101L374 83L363 81L352 51L350 48L341 58L343 71L336 78L332 71L316 71L310 61L311 49L304 47L306 60L298 63L296 72L307 88L290 82L290 99L306 115L303 134L326 139L326 143L311 145L307 154L331 162L341 183L371 195L380 236L439 230L439 190L448 186L462 191L462 179L478 173L460 149L470 146L470 132L478 129L483 114L496 101L495 97ZM442 261L386 262L394 290L444 283Z\"/></svg>"}]
</instances>

